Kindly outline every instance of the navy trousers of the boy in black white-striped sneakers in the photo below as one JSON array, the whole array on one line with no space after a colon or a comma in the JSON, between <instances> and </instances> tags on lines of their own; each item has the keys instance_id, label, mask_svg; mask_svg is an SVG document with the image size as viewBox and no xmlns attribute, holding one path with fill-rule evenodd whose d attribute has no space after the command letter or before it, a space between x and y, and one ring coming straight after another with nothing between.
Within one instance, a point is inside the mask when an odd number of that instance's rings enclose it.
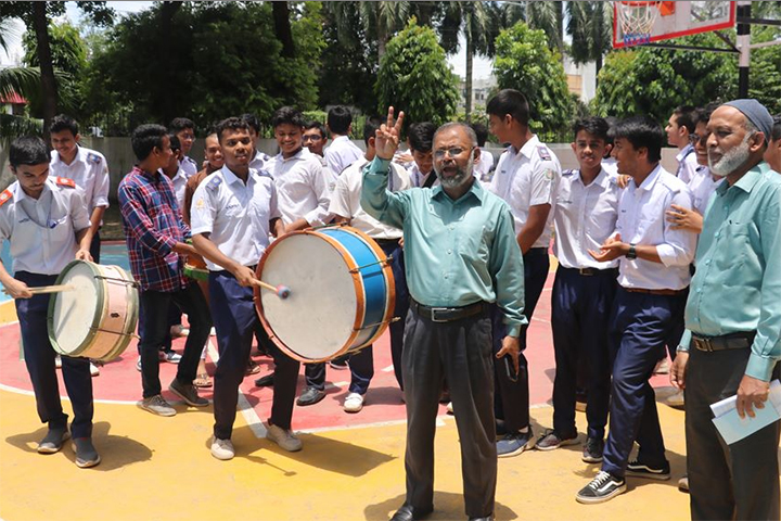
<instances>
[{"instance_id":1,"label":"navy trousers of the boy in black white-striped sneakers","mask_svg":"<svg viewBox=\"0 0 781 521\"><path fill-rule=\"evenodd\" d=\"M653 467L666 461L656 395L649 379L670 331L683 322L684 306L686 293L652 295L618 287L611 313L614 361L604 471L624 476L636 441L640 461Z\"/></svg>"}]
</instances>

